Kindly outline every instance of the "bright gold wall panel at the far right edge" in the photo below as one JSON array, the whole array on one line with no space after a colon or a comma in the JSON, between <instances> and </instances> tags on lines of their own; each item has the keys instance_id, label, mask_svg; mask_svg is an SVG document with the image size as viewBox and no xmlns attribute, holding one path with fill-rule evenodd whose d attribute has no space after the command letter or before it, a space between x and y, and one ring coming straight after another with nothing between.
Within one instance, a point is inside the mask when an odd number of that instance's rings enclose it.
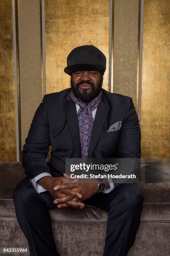
<instances>
[{"instance_id":1,"label":"bright gold wall panel at the far right edge","mask_svg":"<svg viewBox=\"0 0 170 256\"><path fill-rule=\"evenodd\" d=\"M169 0L144 2L141 128L143 157L169 158Z\"/></svg>"}]
</instances>

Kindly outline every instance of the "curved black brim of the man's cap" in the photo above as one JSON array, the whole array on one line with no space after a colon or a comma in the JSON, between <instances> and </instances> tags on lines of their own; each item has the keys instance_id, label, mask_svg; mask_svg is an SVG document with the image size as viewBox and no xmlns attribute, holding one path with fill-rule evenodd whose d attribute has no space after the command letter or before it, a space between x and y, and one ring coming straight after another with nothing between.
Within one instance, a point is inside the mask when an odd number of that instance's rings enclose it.
<instances>
[{"instance_id":1,"label":"curved black brim of the man's cap","mask_svg":"<svg viewBox=\"0 0 170 256\"><path fill-rule=\"evenodd\" d=\"M80 63L76 65L72 65L69 67L65 67L64 72L71 75L74 72L77 71L100 71L104 74L104 70L102 67L97 66L97 65L92 65L92 64L87 64L87 63Z\"/></svg>"}]
</instances>

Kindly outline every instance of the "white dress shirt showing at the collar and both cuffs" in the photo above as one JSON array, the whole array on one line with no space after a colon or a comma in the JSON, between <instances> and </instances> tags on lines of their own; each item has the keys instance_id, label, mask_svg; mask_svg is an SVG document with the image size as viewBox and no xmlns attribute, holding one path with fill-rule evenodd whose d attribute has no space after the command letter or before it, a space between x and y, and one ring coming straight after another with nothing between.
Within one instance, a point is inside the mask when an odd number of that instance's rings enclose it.
<instances>
[{"instance_id":1,"label":"white dress shirt showing at the collar and both cuffs","mask_svg":"<svg viewBox=\"0 0 170 256\"><path fill-rule=\"evenodd\" d=\"M76 110L77 110L77 113L78 113L78 110L80 108L80 106L78 104L76 104ZM96 110L97 108L95 108L94 110L92 110L92 117L93 119L95 120L95 114L96 114ZM37 175L36 177L34 177L33 179L30 179L30 181L32 182L32 184L34 185L36 191L38 193L41 193L41 192L44 192L44 191L47 191L47 189L44 189L39 183L37 183L37 181L39 179L41 179L42 177L45 177L45 176L51 176L50 173L48 172L42 172L41 174ZM110 187L105 189L105 191L103 193L110 193L113 189L114 189L114 184L112 182L112 179L108 179L109 183L110 183Z\"/></svg>"}]
</instances>

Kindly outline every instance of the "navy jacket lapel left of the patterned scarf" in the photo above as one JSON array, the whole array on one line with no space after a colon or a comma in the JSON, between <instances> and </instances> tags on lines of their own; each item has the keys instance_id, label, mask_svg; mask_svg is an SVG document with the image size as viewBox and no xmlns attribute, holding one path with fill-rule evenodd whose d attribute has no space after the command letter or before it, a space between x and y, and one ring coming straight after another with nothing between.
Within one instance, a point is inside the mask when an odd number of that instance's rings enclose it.
<instances>
[{"instance_id":1,"label":"navy jacket lapel left of the patterned scarf","mask_svg":"<svg viewBox=\"0 0 170 256\"><path fill-rule=\"evenodd\" d=\"M70 127L70 131L72 134L72 139L75 144L75 148L77 151L77 155L81 158L81 146L80 146L80 133L78 127L78 120L77 120L77 111L75 103L71 100L70 94L67 97L67 101L65 103L65 110L66 110L66 118Z\"/></svg>"}]
</instances>

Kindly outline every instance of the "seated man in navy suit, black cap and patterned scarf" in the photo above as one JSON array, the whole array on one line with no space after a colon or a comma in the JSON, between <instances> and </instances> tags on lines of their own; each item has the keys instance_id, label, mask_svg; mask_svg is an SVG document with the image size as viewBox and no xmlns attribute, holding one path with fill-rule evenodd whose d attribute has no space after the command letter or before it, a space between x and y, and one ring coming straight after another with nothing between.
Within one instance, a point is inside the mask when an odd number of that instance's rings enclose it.
<instances>
[{"instance_id":1,"label":"seated man in navy suit, black cap and patterned scarf","mask_svg":"<svg viewBox=\"0 0 170 256\"><path fill-rule=\"evenodd\" d=\"M22 151L28 175L15 188L18 222L32 256L59 255L50 208L85 207L109 211L104 256L125 256L135 242L143 196L135 183L95 180L67 182L65 158L140 158L140 126L130 97L102 90L105 55L80 46L67 57L71 88L43 97ZM50 162L46 162L52 145Z\"/></svg>"}]
</instances>

